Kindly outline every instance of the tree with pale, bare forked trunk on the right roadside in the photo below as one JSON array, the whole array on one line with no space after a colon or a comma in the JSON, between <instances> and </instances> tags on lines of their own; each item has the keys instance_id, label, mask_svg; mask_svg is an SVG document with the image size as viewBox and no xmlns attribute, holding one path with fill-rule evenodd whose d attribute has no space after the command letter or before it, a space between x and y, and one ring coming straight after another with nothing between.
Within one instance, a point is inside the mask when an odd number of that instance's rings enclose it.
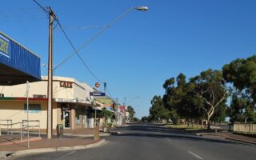
<instances>
[{"instance_id":1,"label":"tree with pale, bare forked trunk on the right roadside","mask_svg":"<svg viewBox=\"0 0 256 160\"><path fill-rule=\"evenodd\" d=\"M200 75L191 78L190 82L194 83L195 92L198 98L202 99L200 107L206 113L207 129L210 130L210 118L222 103L226 102L226 86L222 79L222 71L206 70Z\"/></svg>"}]
</instances>

